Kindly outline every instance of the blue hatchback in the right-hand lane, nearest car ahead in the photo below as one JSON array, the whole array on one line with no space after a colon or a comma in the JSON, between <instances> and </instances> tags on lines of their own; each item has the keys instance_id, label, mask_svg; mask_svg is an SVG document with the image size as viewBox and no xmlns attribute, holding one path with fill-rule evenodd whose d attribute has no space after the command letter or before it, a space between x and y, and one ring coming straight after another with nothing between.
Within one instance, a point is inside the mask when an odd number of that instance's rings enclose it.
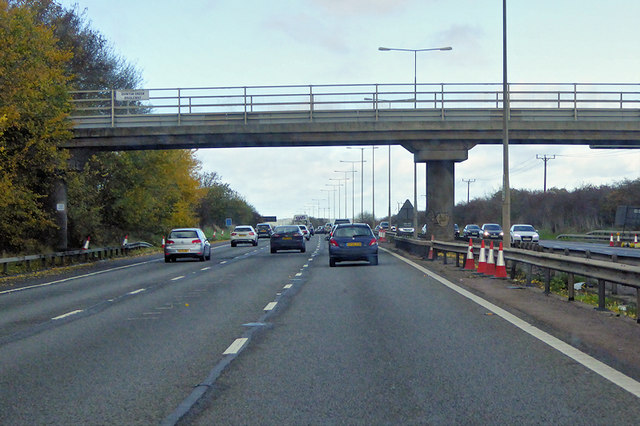
<instances>
[{"instance_id":1,"label":"blue hatchback in the right-hand lane, nearest car ahead","mask_svg":"<svg viewBox=\"0 0 640 426\"><path fill-rule=\"evenodd\" d=\"M366 223L337 225L329 239L329 266L352 260L378 264L378 240Z\"/></svg>"}]
</instances>

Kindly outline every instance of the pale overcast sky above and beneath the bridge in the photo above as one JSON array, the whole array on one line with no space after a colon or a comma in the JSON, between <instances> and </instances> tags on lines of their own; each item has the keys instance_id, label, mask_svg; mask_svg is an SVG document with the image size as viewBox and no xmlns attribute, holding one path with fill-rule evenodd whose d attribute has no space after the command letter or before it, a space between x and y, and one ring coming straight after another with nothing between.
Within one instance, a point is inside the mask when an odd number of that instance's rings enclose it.
<instances>
[{"instance_id":1,"label":"pale overcast sky above and beneath the bridge","mask_svg":"<svg viewBox=\"0 0 640 426\"><path fill-rule=\"evenodd\" d=\"M502 82L501 0L70 0L92 28L142 71L143 88L292 84L412 83L413 54L379 46L452 46L417 57L418 83ZM637 0L508 1L508 75L512 83L638 83ZM635 90L640 91L640 86ZM365 151L364 210L372 208L371 150ZM511 146L516 189L572 189L635 179L637 151L588 147ZM279 218L326 211L330 178L360 150L240 148L198 151L258 212ZM413 202L412 155L391 150L392 214ZM287 161L282 161L286 158ZM360 164L355 205L360 211ZM388 205L388 148L376 150L376 216ZM418 203L425 207L425 165L418 165ZM477 146L456 164L456 203L502 186L502 147ZM351 214L351 184L348 213ZM333 199L331 199L333 205ZM342 203L344 210L344 202ZM333 207L332 207L333 210ZM332 214L333 216L333 214ZM344 215L342 215L344 216ZM489 218L487 219L489 220ZM499 221L500 218L493 219Z\"/></svg>"}]
</instances>

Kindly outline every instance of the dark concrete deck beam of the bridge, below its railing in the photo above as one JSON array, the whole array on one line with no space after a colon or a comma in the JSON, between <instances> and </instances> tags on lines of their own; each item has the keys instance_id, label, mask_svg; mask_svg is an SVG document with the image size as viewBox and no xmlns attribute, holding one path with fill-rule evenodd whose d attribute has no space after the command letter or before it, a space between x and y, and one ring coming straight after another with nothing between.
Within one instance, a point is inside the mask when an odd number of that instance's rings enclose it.
<instances>
[{"instance_id":1,"label":"dark concrete deck beam of the bridge, below its railing","mask_svg":"<svg viewBox=\"0 0 640 426\"><path fill-rule=\"evenodd\" d=\"M401 121L78 128L63 148L125 151L394 144L416 153L432 143L450 142L469 147L502 144L502 125L495 121ZM509 143L637 148L640 121L515 121L509 124Z\"/></svg>"}]
</instances>

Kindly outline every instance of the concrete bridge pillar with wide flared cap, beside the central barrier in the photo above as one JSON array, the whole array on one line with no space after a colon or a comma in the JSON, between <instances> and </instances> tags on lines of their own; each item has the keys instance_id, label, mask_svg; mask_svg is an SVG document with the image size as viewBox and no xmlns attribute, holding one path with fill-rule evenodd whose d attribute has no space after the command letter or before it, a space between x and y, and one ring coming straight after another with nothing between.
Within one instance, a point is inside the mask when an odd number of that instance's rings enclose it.
<instances>
[{"instance_id":1,"label":"concrete bridge pillar with wide flared cap, beside the central barrier","mask_svg":"<svg viewBox=\"0 0 640 426\"><path fill-rule=\"evenodd\" d=\"M412 150L415 162L427 165L427 237L454 240L455 163L469 156L473 144L430 144L427 149Z\"/></svg>"}]
</instances>

